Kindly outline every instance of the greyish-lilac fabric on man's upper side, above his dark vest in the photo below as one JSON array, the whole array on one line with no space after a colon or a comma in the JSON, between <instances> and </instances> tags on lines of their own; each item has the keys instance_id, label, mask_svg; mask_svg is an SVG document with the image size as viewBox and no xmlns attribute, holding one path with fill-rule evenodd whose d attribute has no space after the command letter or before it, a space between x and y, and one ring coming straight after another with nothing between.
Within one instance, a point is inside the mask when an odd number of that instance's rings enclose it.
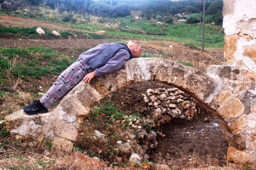
<instances>
[{"instance_id":1,"label":"greyish-lilac fabric on man's upper side, above his dark vest","mask_svg":"<svg viewBox=\"0 0 256 170\"><path fill-rule=\"evenodd\" d=\"M111 43L102 43L100 45L97 45L96 47L93 47L90 50L87 50L86 52L83 52L79 55L79 58L82 58L84 60L84 63L88 63L90 59L94 58L99 52L109 47Z\"/></svg>"}]
</instances>

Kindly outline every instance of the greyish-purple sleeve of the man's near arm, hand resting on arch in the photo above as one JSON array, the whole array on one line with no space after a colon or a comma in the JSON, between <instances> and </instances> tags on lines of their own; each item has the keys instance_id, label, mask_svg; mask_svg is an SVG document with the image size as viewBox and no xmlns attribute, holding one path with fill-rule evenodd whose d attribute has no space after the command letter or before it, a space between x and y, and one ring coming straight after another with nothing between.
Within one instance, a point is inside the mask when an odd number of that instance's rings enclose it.
<instances>
[{"instance_id":1,"label":"greyish-purple sleeve of the man's near arm, hand resting on arch","mask_svg":"<svg viewBox=\"0 0 256 170\"><path fill-rule=\"evenodd\" d=\"M116 53L116 55L113 58L109 59L106 65L94 70L96 77L99 77L106 73L115 72L116 70L120 70L120 68L122 68L122 66L129 58L129 52L125 49L121 49Z\"/></svg>"}]
</instances>

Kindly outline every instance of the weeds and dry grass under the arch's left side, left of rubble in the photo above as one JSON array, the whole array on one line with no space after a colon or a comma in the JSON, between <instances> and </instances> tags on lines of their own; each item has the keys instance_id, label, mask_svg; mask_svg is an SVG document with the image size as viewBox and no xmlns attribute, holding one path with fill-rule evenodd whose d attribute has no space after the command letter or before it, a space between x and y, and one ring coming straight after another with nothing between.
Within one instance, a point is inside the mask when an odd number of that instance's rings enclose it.
<instances>
[{"instance_id":1,"label":"weeds and dry grass under the arch's left side, left of rubble","mask_svg":"<svg viewBox=\"0 0 256 170\"><path fill-rule=\"evenodd\" d=\"M129 127L127 127L129 121L122 125L120 122L131 118L136 119L138 116L139 114L128 114L117 111L115 104L101 100L100 103L90 111L86 118L87 121L84 121L81 137L78 137L76 143L76 150L80 150L81 152L88 151L91 157L96 156L108 160L108 164L112 164L112 166L119 164L120 162L115 162L115 157L123 157L124 153L116 150L113 146L116 144L116 141L125 141L124 133L129 129ZM93 137L95 135L95 129L103 133L106 140L102 141L102 139ZM100 144L100 150L97 146L98 144ZM127 164L125 163L125 165Z\"/></svg>"}]
</instances>

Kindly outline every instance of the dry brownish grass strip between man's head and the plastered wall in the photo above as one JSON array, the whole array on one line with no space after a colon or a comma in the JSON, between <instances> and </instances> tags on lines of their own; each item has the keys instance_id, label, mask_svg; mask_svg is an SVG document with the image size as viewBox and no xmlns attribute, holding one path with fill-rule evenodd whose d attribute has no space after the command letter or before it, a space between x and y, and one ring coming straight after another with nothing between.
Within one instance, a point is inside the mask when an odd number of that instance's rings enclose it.
<instances>
[{"instance_id":1,"label":"dry brownish grass strip between man's head and the plastered wall","mask_svg":"<svg viewBox=\"0 0 256 170\"><path fill-rule=\"evenodd\" d=\"M193 46L184 45L176 42L165 41L140 41L138 42L143 47L143 52L152 54L159 58L171 59L173 61L182 61L191 63L193 68L197 68L202 72L206 72L209 65L222 65L224 61L223 49L206 49L202 52L200 49ZM169 47L172 45L172 47ZM194 49L193 49L194 48Z\"/></svg>"}]
</instances>

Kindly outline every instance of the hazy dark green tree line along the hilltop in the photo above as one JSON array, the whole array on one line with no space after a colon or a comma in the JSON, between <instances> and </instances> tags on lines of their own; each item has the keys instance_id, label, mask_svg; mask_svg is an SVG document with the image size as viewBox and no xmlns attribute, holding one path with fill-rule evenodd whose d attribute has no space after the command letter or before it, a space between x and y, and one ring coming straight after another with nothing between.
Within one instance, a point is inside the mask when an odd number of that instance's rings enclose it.
<instances>
[{"instance_id":1,"label":"hazy dark green tree line along the hilltop","mask_svg":"<svg viewBox=\"0 0 256 170\"><path fill-rule=\"evenodd\" d=\"M7 10L17 10L22 4L23 6L44 6L58 12L74 12L88 13L101 17L125 17L131 15L131 12L139 12L138 17L144 17L147 20L152 18L161 18L161 21L167 21L175 16L179 19L186 16L188 24L202 22L203 0L7 0L12 2L12 8ZM4 0L0 0L2 8L4 8ZM16 6L15 6L16 4ZM215 22L222 24L222 7L223 0L206 0L205 22Z\"/></svg>"}]
</instances>

